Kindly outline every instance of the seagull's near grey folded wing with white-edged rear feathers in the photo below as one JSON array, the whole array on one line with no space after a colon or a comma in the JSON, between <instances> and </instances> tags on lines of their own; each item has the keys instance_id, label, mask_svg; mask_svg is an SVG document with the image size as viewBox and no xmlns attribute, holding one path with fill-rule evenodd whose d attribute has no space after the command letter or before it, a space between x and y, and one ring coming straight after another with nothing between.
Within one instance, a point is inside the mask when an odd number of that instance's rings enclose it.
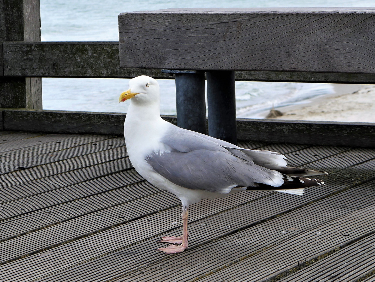
<instances>
[{"instance_id":1,"label":"seagull's near grey folded wing with white-edged rear feathers","mask_svg":"<svg viewBox=\"0 0 375 282\"><path fill-rule=\"evenodd\" d=\"M233 187L254 183L281 186L282 175L235 156L216 142L180 128L172 128L162 139L169 153L155 152L148 163L163 177L189 189L228 193Z\"/></svg>"}]
</instances>

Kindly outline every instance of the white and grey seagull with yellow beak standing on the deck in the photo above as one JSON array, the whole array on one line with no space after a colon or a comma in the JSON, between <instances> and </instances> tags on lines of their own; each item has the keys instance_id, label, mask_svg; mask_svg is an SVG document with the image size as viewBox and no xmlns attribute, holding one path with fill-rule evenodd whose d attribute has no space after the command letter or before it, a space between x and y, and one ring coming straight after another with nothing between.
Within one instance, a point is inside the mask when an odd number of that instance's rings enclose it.
<instances>
[{"instance_id":1,"label":"white and grey seagull with yellow beak standing on the deck","mask_svg":"<svg viewBox=\"0 0 375 282\"><path fill-rule=\"evenodd\" d=\"M202 133L183 129L160 117L160 89L142 75L129 81L119 102L130 100L124 123L129 159L148 182L174 193L182 202L182 236L162 237L165 254L187 249L189 205L243 190L273 190L303 195L303 189L324 185L312 177L327 175L287 166L272 151L249 150Z\"/></svg>"}]
</instances>

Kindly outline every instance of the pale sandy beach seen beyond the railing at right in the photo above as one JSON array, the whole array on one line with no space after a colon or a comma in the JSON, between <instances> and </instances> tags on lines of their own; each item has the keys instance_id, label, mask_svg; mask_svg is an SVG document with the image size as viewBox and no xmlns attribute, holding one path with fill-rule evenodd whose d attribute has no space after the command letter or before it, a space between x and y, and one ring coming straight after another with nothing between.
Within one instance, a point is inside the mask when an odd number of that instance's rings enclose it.
<instances>
[{"instance_id":1,"label":"pale sandy beach seen beyond the railing at right","mask_svg":"<svg viewBox=\"0 0 375 282\"><path fill-rule=\"evenodd\" d=\"M366 84L333 84L333 86L335 94L309 99L304 104L275 109L283 113L275 119L375 122L375 86Z\"/></svg>"}]
</instances>

